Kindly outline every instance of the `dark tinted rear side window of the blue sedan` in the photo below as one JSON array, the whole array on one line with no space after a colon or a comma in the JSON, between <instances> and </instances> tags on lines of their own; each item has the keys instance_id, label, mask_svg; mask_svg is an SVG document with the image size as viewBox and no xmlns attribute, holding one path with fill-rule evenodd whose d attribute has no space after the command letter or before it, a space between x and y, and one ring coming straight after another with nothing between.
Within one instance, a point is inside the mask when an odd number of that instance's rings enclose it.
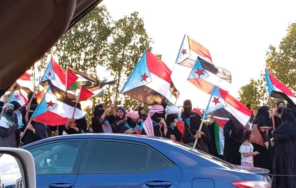
<instances>
[{"instance_id":1,"label":"dark tinted rear side window of the blue sedan","mask_svg":"<svg viewBox=\"0 0 296 188\"><path fill-rule=\"evenodd\" d=\"M93 141L85 173L144 173L170 166L168 161L143 145Z\"/></svg>"}]
</instances>

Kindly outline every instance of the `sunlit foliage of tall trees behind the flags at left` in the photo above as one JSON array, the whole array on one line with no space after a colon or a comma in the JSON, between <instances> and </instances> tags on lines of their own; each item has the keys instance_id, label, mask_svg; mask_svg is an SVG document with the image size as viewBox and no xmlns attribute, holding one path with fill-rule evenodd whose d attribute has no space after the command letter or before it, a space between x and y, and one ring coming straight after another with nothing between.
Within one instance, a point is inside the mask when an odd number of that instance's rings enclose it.
<instances>
[{"instance_id":1,"label":"sunlit foliage of tall trees behind the flags at left","mask_svg":"<svg viewBox=\"0 0 296 188\"><path fill-rule=\"evenodd\" d=\"M115 21L102 5L76 23L36 62L31 68L33 81L38 86L52 55L58 57L58 63L64 70L69 66L96 76L98 67L105 68L110 73L110 79L119 78L120 81L108 86L104 96L93 99L91 106L93 109L95 105L102 104L107 108L119 94L143 52L152 50L151 43L152 39L148 37L138 12ZM99 80L106 79L101 75L98 77ZM138 101L120 95L117 106L123 105L130 110L137 104ZM92 113L93 110L89 110L86 116L88 120Z\"/></svg>"}]
</instances>

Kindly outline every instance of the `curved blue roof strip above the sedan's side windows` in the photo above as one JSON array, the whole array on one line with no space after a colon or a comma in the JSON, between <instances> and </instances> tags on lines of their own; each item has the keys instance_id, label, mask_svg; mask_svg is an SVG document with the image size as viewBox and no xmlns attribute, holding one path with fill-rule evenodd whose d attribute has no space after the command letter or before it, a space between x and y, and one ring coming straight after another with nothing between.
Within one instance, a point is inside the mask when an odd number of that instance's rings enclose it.
<instances>
[{"instance_id":1,"label":"curved blue roof strip above the sedan's side windows","mask_svg":"<svg viewBox=\"0 0 296 188\"><path fill-rule=\"evenodd\" d=\"M147 135L138 135L138 134L105 134L105 133L84 133L84 134L71 134L71 135L64 135L64 136L54 136L46 139L39 140L37 142L33 142L31 144L23 146L23 148L30 147L32 145L40 144L43 142L55 141L55 140L66 140L66 139L118 139L118 140L130 140L130 141L137 141L137 142L149 142L149 141L156 141L156 142L163 142L170 144L173 141L166 138L161 138L157 136L147 136Z\"/></svg>"}]
</instances>

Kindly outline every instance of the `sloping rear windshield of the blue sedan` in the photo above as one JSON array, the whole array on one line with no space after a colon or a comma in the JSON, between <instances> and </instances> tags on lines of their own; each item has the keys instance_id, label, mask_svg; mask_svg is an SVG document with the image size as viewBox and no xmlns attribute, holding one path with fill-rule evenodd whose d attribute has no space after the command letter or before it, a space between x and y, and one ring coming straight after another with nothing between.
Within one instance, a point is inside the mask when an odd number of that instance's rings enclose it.
<instances>
[{"instance_id":1,"label":"sloping rear windshield of the blue sedan","mask_svg":"<svg viewBox=\"0 0 296 188\"><path fill-rule=\"evenodd\" d=\"M195 148L192 148L189 145L182 144L180 142L176 142L176 141L172 141L172 140L163 140L163 141L168 142L169 144L172 144L172 145L174 145L176 147L179 147L181 149L184 149L184 150L187 150L189 152L192 152L192 153L194 153L194 154L196 154L196 155L198 155L198 156L200 156L200 157L202 157L202 158L204 158L206 160L209 160L209 161L211 161L211 162L213 162L213 163L215 163L217 165L220 165L220 166L222 166L224 168L231 169L231 168L234 168L235 167L231 163L228 163L228 162L226 162L226 161L224 161L222 159L219 159L219 158L217 158L215 156L212 156L212 155L210 155L208 153L205 153L203 151L200 151L200 150L197 150Z\"/></svg>"}]
</instances>

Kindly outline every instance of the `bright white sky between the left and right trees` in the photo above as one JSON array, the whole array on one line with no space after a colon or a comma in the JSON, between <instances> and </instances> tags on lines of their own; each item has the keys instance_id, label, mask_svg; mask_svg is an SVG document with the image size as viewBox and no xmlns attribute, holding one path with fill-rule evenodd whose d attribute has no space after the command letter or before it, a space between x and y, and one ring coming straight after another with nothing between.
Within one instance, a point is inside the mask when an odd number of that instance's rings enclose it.
<instances>
[{"instance_id":1,"label":"bright white sky between the left and right trees","mask_svg":"<svg viewBox=\"0 0 296 188\"><path fill-rule=\"evenodd\" d=\"M102 4L114 20L139 12L155 42L152 52L162 54L169 67L185 33L206 46L213 63L231 71L234 97L250 78L259 77L269 44L278 45L289 23L296 21L295 0L104 0ZM180 96L177 104L186 97ZM192 103L200 105L197 100Z\"/></svg>"}]
</instances>

